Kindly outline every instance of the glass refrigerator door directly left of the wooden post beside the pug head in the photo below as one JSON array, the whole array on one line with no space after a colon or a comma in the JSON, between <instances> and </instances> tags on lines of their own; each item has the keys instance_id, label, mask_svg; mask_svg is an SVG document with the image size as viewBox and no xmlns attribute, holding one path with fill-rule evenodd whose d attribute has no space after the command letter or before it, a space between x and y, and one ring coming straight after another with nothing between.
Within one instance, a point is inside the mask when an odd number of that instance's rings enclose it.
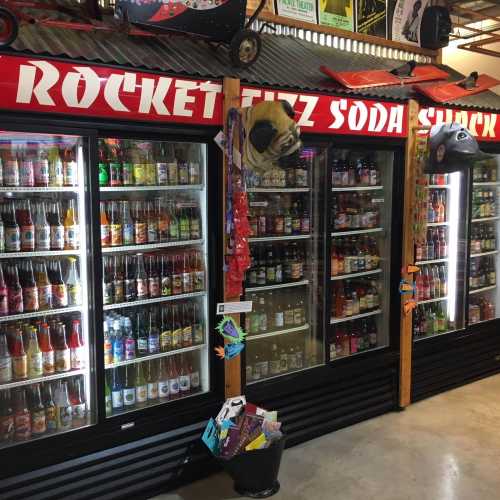
<instances>
[{"instance_id":1,"label":"glass refrigerator door directly left of the wooden post beside the pug head","mask_svg":"<svg viewBox=\"0 0 500 500\"><path fill-rule=\"evenodd\" d=\"M108 417L209 390L206 153L99 140Z\"/></svg>"}]
</instances>

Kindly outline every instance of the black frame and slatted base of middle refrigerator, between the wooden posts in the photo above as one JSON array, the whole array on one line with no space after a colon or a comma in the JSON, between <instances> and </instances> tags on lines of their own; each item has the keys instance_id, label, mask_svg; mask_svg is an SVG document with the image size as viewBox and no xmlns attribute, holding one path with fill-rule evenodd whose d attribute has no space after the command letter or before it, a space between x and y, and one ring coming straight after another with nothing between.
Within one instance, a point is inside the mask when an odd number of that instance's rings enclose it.
<instances>
[{"instance_id":1,"label":"black frame and slatted base of middle refrigerator, between the wooden posts","mask_svg":"<svg viewBox=\"0 0 500 500\"><path fill-rule=\"evenodd\" d=\"M245 356L242 357L242 386L247 400L270 410L278 410L291 446L335 429L395 410L399 407L399 321L401 275L401 235L404 186L405 140L372 138L366 136L303 135L305 146L342 149L379 149L394 152L391 228L391 291L389 345L346 356L307 370L282 375L249 386L245 385ZM328 159L327 159L328 161ZM326 356L330 327L330 226L331 203L330 169L320 197L321 209L319 274L321 289L313 291L320 298L318 322L323 333ZM325 307L326 306L326 307ZM326 358L325 358L326 359Z\"/></svg>"}]
</instances>

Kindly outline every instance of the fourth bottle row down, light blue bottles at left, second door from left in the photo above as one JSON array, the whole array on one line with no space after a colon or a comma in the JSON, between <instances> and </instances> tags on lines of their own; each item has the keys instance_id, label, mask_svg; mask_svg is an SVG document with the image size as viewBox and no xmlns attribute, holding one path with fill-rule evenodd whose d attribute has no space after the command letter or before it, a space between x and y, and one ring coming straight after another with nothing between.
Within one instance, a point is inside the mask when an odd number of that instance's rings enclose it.
<instances>
[{"instance_id":1,"label":"fourth bottle row down, light blue bottles at left, second door from left","mask_svg":"<svg viewBox=\"0 0 500 500\"><path fill-rule=\"evenodd\" d=\"M104 363L111 365L141 356L201 345L205 326L196 302L106 314L103 323Z\"/></svg>"}]
</instances>

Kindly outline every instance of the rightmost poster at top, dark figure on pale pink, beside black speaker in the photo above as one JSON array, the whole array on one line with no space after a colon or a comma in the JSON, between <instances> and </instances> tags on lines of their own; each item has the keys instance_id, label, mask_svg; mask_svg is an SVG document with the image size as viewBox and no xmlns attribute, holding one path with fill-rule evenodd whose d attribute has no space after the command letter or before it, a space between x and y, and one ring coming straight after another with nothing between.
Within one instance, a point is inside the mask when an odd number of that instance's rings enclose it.
<instances>
[{"instance_id":1,"label":"rightmost poster at top, dark figure on pale pink, beside black speaker","mask_svg":"<svg viewBox=\"0 0 500 500\"><path fill-rule=\"evenodd\" d=\"M420 46L420 23L429 0L398 0L392 19L392 39Z\"/></svg>"}]
</instances>

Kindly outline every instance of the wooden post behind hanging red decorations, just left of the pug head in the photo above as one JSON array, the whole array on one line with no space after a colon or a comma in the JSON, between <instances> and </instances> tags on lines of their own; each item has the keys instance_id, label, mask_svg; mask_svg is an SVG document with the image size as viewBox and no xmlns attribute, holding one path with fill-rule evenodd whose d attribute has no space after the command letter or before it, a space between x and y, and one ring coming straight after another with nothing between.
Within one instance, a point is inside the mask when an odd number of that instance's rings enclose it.
<instances>
[{"instance_id":1,"label":"wooden post behind hanging red decorations, just left of the pug head","mask_svg":"<svg viewBox=\"0 0 500 500\"><path fill-rule=\"evenodd\" d=\"M240 81L237 78L224 78L222 91L224 94L223 118L224 118L224 133L227 137L226 121L227 114L231 108L240 107ZM223 234L224 234L224 252L227 248L227 236L225 231L225 215L226 215L226 191L227 191L227 157L224 155L223 162ZM224 279L224 302L239 301L240 297L230 297L226 290L226 281ZM240 315L233 314L232 317L239 324ZM224 381L226 398L239 396L241 394L241 358L236 356L231 360L224 361Z\"/></svg>"}]
</instances>

